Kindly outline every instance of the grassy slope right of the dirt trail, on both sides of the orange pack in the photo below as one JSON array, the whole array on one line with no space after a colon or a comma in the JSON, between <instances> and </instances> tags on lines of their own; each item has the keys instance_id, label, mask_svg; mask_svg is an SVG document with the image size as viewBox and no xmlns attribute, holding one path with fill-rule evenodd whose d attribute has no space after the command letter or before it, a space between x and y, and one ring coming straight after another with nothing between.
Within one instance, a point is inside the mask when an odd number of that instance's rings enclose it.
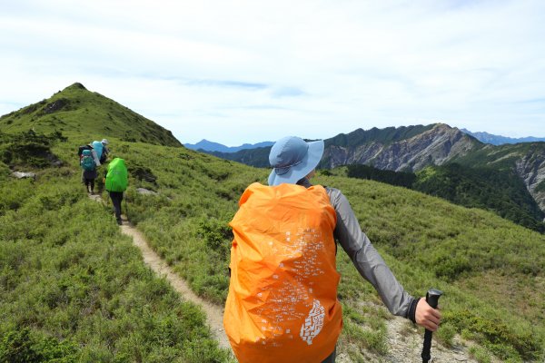
<instances>
[{"instance_id":1,"label":"grassy slope right of the dirt trail, on both sides of the orange pack","mask_svg":"<svg viewBox=\"0 0 545 363\"><path fill-rule=\"evenodd\" d=\"M227 223L243 189L264 182L268 170L180 148L127 143L119 150L129 165L148 165L155 177L153 184L136 184L159 192L144 196L129 191L133 221L198 294L223 303L232 239ZM542 235L490 212L404 188L339 176L321 176L316 182L347 195L362 229L413 295L430 286L447 292L444 331L478 341L502 359L540 358L545 336ZM340 298L345 309L359 314L347 317L352 328L345 329L339 349L347 351L356 341L381 352L381 329L362 335L362 321L373 314L362 310L361 301L378 298L346 255L338 257ZM487 295L483 285L509 293Z\"/></svg>"}]
</instances>

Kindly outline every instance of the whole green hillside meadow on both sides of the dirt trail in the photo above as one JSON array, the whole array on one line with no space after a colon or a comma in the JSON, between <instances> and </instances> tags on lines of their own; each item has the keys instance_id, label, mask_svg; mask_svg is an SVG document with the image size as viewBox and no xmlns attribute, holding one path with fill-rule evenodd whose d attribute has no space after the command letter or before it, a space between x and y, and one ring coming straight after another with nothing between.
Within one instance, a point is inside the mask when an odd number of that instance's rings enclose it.
<instances>
[{"instance_id":1,"label":"whole green hillside meadow on both sides of the dirt trail","mask_svg":"<svg viewBox=\"0 0 545 363\"><path fill-rule=\"evenodd\" d=\"M265 182L268 170L183 147L104 137L111 139L114 156L127 161L130 187L123 206L129 219L198 295L223 304L232 239L227 223L244 188ZM0 164L0 219L6 226L0 239L0 357L28 342L32 354L44 356L44 347L52 346L61 352L49 357L89 361L229 360L203 328L202 313L154 278L117 231L111 212L86 198L75 157L84 137L57 139L51 151L64 166L35 169L35 182L6 176ZM17 169L24 166L19 162ZM476 343L481 362L542 361L544 236L490 212L332 174L319 172L313 182L344 192L403 286L414 296L430 287L445 292L435 335L442 344L460 334ZM362 359L362 350L384 354L390 316L346 254L339 250L337 257L345 318L338 352L352 361Z\"/></svg>"}]
</instances>

